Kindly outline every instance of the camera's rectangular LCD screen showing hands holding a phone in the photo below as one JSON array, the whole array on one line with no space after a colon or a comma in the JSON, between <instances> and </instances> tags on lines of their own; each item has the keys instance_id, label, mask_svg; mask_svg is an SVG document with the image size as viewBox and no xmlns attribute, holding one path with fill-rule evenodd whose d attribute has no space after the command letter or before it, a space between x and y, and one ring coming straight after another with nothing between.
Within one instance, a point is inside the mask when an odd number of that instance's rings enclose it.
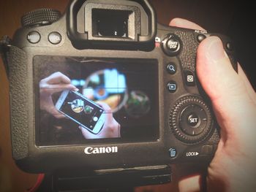
<instances>
[{"instance_id":1,"label":"camera's rectangular LCD screen showing hands holding a phone","mask_svg":"<svg viewBox=\"0 0 256 192\"><path fill-rule=\"evenodd\" d=\"M159 139L156 60L36 56L33 64L38 146Z\"/></svg>"}]
</instances>

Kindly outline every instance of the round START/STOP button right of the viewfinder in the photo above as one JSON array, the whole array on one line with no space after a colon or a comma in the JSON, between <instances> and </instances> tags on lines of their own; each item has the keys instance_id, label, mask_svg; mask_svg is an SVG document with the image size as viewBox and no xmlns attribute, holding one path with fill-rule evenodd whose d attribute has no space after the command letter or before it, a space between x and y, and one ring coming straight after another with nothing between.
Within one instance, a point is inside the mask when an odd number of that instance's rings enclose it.
<instances>
[{"instance_id":1,"label":"round START/STOP button right of the viewfinder","mask_svg":"<svg viewBox=\"0 0 256 192\"><path fill-rule=\"evenodd\" d=\"M162 40L162 49L167 55L178 55L181 50L181 41L176 35L168 34L167 37Z\"/></svg>"}]
</instances>

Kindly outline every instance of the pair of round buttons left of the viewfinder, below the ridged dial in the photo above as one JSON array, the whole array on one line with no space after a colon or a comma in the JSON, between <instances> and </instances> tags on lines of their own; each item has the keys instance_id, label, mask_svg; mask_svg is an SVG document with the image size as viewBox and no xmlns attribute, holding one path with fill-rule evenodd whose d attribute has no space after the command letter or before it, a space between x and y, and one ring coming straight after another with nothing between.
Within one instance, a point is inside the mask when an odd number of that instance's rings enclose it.
<instances>
[{"instance_id":1,"label":"pair of round buttons left of the viewfinder, below the ridged dial","mask_svg":"<svg viewBox=\"0 0 256 192\"><path fill-rule=\"evenodd\" d=\"M26 39L32 43L36 44L41 40L41 35L38 31L30 31L29 34L27 34ZM53 31L48 35L48 42L50 42L53 45L57 45L61 42L61 34L59 32Z\"/></svg>"}]
</instances>

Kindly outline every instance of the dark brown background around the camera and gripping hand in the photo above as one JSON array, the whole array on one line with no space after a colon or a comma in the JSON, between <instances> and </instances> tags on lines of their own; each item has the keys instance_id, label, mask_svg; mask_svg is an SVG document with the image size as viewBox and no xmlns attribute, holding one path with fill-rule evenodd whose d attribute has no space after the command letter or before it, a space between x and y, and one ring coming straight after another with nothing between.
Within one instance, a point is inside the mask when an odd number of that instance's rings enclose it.
<instances>
[{"instance_id":1,"label":"dark brown background around the camera and gripping hand","mask_svg":"<svg viewBox=\"0 0 256 192\"><path fill-rule=\"evenodd\" d=\"M69 0L1 0L0 37L12 37L20 27L20 17L33 9L48 7L64 12ZM151 0L159 23L168 24L173 18L186 18L208 31L227 34L235 44L238 61L249 80L255 83L255 10L252 2L207 0ZM174 173L176 174L176 173ZM36 174L20 171L12 161L10 143L9 84L0 60L0 191L25 191L37 179ZM173 183L137 188L136 191L177 191Z\"/></svg>"}]
</instances>

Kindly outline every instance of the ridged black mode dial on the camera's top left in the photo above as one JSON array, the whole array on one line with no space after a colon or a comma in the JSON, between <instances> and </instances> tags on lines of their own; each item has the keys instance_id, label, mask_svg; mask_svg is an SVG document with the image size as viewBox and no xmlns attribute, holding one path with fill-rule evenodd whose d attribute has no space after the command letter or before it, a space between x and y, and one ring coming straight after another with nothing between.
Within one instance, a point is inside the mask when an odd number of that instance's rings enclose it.
<instances>
[{"instance_id":1,"label":"ridged black mode dial on the camera's top left","mask_svg":"<svg viewBox=\"0 0 256 192\"><path fill-rule=\"evenodd\" d=\"M22 26L44 26L53 23L61 16L61 12L55 9L36 9L26 13L21 18Z\"/></svg>"}]
</instances>

